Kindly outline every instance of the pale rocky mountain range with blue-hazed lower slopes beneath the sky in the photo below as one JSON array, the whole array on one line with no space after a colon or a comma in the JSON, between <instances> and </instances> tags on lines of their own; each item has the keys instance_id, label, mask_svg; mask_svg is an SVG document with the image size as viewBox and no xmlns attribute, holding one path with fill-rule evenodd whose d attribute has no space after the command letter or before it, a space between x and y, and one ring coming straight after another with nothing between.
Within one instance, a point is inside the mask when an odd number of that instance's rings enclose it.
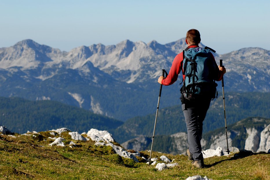
<instances>
[{"instance_id":1,"label":"pale rocky mountain range with blue-hazed lower slopes beneath the sky","mask_svg":"<svg viewBox=\"0 0 270 180\"><path fill-rule=\"evenodd\" d=\"M23 40L0 49L0 96L59 101L123 121L144 116L156 111L161 70L169 71L185 47L185 38L164 45L125 40L66 52ZM227 68L226 92L270 91L270 51L243 48L214 56ZM161 108L180 104L181 80L163 88Z\"/></svg>"}]
</instances>

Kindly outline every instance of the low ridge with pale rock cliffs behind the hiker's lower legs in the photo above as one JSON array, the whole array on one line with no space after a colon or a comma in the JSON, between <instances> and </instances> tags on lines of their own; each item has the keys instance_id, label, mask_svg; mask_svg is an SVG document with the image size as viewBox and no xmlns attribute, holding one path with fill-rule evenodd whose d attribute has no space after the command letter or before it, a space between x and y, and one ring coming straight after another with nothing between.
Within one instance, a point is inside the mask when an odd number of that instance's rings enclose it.
<instances>
[{"instance_id":1,"label":"low ridge with pale rock cliffs behind the hiker's lower legs","mask_svg":"<svg viewBox=\"0 0 270 180\"><path fill-rule=\"evenodd\" d=\"M228 125L228 144L229 151L231 147L246 149L255 152L267 150L270 147L270 119L269 118L246 118L232 125ZM122 143L127 149L143 151L151 149L152 139L147 136L139 136ZM220 146L223 152L227 151L227 140L225 128L219 128L203 134L202 150L216 149ZM188 147L187 133L180 132L172 135L155 136L154 151L185 154Z\"/></svg>"}]
</instances>

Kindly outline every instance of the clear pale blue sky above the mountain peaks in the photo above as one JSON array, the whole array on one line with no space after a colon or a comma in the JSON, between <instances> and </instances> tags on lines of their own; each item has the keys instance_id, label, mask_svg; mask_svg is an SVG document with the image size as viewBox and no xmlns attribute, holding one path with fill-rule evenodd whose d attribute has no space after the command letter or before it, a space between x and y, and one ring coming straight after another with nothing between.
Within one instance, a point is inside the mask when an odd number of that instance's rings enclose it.
<instances>
[{"instance_id":1,"label":"clear pale blue sky above the mountain peaks","mask_svg":"<svg viewBox=\"0 0 270 180\"><path fill-rule=\"evenodd\" d=\"M0 48L24 39L62 51L126 39L166 44L195 28L219 54L270 50L269 7L269 0L1 0Z\"/></svg>"}]
</instances>

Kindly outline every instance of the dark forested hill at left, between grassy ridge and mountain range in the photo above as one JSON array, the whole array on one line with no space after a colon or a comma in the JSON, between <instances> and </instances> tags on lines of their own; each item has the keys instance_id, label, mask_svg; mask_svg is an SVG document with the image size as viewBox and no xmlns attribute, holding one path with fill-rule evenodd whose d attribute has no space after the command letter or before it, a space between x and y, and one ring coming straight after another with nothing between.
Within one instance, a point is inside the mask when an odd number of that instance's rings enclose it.
<instances>
[{"instance_id":1,"label":"dark forested hill at left, between grassy ridge and mountain range","mask_svg":"<svg viewBox=\"0 0 270 180\"><path fill-rule=\"evenodd\" d=\"M16 133L69 127L80 133L91 128L112 131L123 122L56 101L0 97L0 124Z\"/></svg>"}]
</instances>

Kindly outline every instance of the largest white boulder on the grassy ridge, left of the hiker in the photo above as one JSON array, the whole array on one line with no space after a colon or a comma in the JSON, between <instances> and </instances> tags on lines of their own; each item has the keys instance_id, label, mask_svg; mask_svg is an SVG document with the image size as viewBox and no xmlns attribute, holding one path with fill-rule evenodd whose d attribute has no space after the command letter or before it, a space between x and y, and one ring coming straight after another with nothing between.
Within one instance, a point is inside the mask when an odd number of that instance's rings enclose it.
<instances>
[{"instance_id":1,"label":"largest white boulder on the grassy ridge, left of the hiker","mask_svg":"<svg viewBox=\"0 0 270 180\"><path fill-rule=\"evenodd\" d=\"M112 138L112 134L108 131L98 131L97 129L90 129L90 131L87 132L87 137L96 142L115 142L114 138Z\"/></svg>"}]
</instances>

